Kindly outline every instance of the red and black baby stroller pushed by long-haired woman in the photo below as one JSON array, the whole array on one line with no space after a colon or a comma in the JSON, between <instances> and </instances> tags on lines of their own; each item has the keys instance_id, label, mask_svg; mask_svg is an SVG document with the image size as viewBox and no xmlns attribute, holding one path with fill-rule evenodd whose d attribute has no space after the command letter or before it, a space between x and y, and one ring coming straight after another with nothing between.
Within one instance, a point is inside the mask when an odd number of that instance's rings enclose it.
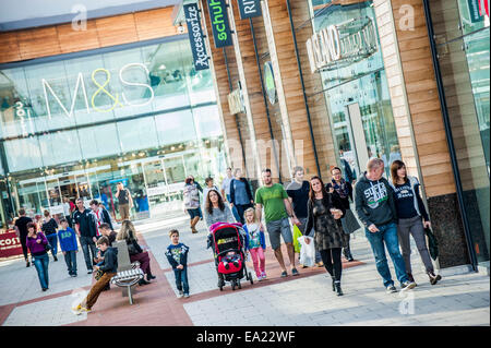
<instances>
[{"instance_id":1,"label":"red and black baby stroller pushed by long-haired woman","mask_svg":"<svg viewBox=\"0 0 491 348\"><path fill-rule=\"evenodd\" d=\"M217 223L211 226L212 245L215 266L218 274L218 288L224 290L225 281L230 281L232 290L242 288L240 279L254 284L252 275L246 267L246 233L240 224ZM229 254L235 254L233 262L227 262Z\"/></svg>"}]
</instances>

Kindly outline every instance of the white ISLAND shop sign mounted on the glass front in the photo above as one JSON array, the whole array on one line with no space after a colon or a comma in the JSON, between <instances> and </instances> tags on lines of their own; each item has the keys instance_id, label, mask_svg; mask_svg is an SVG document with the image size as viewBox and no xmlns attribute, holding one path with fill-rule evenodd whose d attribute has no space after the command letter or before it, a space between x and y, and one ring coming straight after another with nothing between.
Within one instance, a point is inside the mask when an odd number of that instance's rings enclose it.
<instances>
[{"instance_id":1,"label":"white ISLAND shop sign mounted on the glass front","mask_svg":"<svg viewBox=\"0 0 491 348\"><path fill-rule=\"evenodd\" d=\"M376 50L375 28L369 17L354 19L343 25L330 25L307 40L312 73L321 69L349 65L370 57Z\"/></svg>"}]
</instances>

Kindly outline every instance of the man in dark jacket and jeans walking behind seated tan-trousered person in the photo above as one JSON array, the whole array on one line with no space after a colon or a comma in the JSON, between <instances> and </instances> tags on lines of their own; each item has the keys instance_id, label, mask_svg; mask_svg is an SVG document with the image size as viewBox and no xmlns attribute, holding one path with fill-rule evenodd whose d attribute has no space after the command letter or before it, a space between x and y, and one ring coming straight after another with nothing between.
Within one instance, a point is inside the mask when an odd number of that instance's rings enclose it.
<instances>
[{"instance_id":1,"label":"man in dark jacket and jeans walking behind seated tan-trousered person","mask_svg":"<svg viewBox=\"0 0 491 348\"><path fill-rule=\"evenodd\" d=\"M97 221L94 213L84 207L84 201L82 199L76 200L76 211L73 213L73 220L84 253L87 274L91 274L94 266L94 259L97 256L97 248L95 244L97 241Z\"/></svg>"}]
</instances>

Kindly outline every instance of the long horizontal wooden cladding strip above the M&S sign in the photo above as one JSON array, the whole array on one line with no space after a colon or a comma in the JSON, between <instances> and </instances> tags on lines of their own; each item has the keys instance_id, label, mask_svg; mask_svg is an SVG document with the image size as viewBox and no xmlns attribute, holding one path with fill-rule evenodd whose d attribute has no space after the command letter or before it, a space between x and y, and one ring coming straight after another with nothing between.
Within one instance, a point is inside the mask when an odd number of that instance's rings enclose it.
<instances>
[{"instance_id":1,"label":"long horizontal wooden cladding strip above the M&S sign","mask_svg":"<svg viewBox=\"0 0 491 348\"><path fill-rule=\"evenodd\" d=\"M85 31L71 23L0 33L0 63L50 57L178 35L172 8L87 21Z\"/></svg>"}]
</instances>

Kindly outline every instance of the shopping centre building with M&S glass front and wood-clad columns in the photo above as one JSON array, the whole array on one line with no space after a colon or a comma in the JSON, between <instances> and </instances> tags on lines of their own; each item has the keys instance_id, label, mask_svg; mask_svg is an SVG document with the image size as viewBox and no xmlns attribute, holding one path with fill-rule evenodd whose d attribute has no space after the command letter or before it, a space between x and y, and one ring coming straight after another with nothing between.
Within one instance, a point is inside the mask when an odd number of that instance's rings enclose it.
<instances>
[{"instance_id":1,"label":"shopping centre building with M&S glass front and wood-clad columns","mask_svg":"<svg viewBox=\"0 0 491 348\"><path fill-rule=\"evenodd\" d=\"M143 3L0 26L3 226L64 197L116 212L121 180L144 218L181 209L189 173L380 157L420 179L441 267L489 265L489 1Z\"/></svg>"}]
</instances>

